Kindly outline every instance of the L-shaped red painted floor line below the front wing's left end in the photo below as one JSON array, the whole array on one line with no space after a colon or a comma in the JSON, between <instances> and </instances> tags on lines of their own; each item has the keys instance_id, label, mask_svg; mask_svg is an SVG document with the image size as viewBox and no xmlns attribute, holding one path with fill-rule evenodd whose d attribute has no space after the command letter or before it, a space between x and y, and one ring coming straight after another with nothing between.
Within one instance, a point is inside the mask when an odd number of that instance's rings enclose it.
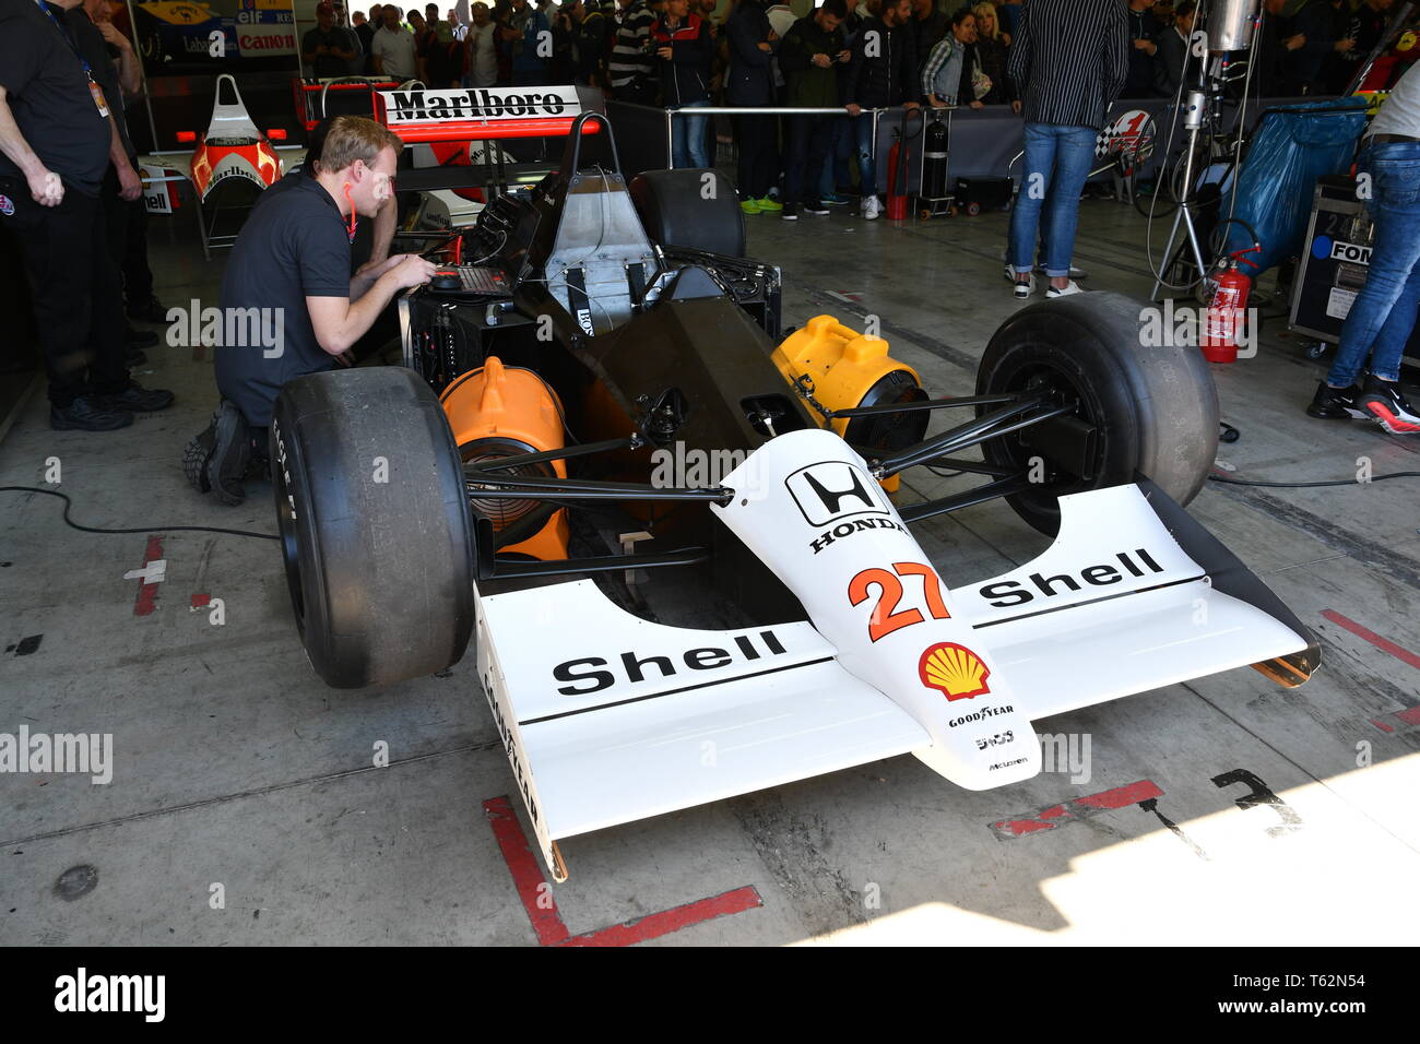
<instances>
[{"instance_id":1,"label":"L-shaped red painted floor line below the front wing's left end","mask_svg":"<svg viewBox=\"0 0 1420 1044\"><path fill-rule=\"evenodd\" d=\"M493 827L493 837L503 852L503 861L508 865L508 874L513 875L513 886L517 888L523 909L542 946L630 946L764 905L758 891L753 885L746 885L709 899L697 899L636 920L623 920L621 925L574 936L562 922L562 915L552 899L552 888L542 876L542 866L528 844L527 834L523 832L513 804L506 797L488 798L483 803L483 814Z\"/></svg>"}]
</instances>

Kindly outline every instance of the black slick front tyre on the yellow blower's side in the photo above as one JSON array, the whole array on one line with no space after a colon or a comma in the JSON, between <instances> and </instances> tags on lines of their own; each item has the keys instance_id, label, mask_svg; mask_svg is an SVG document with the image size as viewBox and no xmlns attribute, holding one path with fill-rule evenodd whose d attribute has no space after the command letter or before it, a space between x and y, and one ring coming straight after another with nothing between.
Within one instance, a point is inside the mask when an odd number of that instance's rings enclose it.
<instances>
[{"instance_id":1,"label":"black slick front tyre on the yellow blower's side","mask_svg":"<svg viewBox=\"0 0 1420 1044\"><path fill-rule=\"evenodd\" d=\"M1203 487L1218 447L1218 396L1191 345L1146 347L1146 305L1122 294L1072 294L1020 310L1001 324L977 368L977 395L1047 393L1079 402L1075 418L1096 430L1082 476L1051 457L1032 429L983 443L988 463L1030 470L1041 457L1049 480L1007 503L1041 533L1059 530L1059 497L1153 479L1187 504ZM984 413L991 406L978 408Z\"/></svg>"}]
</instances>

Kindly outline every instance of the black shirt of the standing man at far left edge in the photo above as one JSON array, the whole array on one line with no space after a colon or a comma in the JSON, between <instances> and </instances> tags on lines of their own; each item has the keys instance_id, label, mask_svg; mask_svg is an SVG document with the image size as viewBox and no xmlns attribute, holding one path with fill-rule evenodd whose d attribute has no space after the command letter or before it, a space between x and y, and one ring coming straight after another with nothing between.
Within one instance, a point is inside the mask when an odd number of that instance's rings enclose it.
<instances>
[{"instance_id":1,"label":"black shirt of the standing man at far left edge","mask_svg":"<svg viewBox=\"0 0 1420 1044\"><path fill-rule=\"evenodd\" d=\"M34 0L0 0L0 85L20 134L71 189L98 196L108 169L112 129L89 94L64 9L55 26ZM20 169L0 152L0 176Z\"/></svg>"}]
</instances>

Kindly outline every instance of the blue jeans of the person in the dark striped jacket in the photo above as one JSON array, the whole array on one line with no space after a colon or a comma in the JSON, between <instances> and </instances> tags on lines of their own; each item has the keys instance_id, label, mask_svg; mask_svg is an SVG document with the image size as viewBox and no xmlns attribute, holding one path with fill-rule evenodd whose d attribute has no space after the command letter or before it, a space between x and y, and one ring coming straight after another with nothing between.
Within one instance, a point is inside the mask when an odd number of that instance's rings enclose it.
<instances>
[{"instance_id":1,"label":"blue jeans of the person in the dark striped jacket","mask_svg":"<svg viewBox=\"0 0 1420 1044\"><path fill-rule=\"evenodd\" d=\"M1035 259L1035 234L1044 223L1045 274L1069 276L1079 223L1079 193L1095 161L1092 126L1025 125L1025 166L1021 192L1011 210L1011 267L1027 273ZM1044 217L1041 210L1044 209Z\"/></svg>"}]
</instances>

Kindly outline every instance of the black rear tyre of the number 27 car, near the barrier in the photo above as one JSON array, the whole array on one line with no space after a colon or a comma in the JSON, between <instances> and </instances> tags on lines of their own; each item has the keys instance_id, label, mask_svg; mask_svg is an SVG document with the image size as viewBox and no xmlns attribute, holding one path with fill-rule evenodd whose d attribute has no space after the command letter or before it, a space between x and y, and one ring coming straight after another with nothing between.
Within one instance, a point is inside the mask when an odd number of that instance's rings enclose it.
<instances>
[{"instance_id":1,"label":"black rear tyre of the number 27 car, near the barrier","mask_svg":"<svg viewBox=\"0 0 1420 1044\"><path fill-rule=\"evenodd\" d=\"M719 172L646 170L632 180L630 197L653 243L744 257L744 212Z\"/></svg>"}]
</instances>

